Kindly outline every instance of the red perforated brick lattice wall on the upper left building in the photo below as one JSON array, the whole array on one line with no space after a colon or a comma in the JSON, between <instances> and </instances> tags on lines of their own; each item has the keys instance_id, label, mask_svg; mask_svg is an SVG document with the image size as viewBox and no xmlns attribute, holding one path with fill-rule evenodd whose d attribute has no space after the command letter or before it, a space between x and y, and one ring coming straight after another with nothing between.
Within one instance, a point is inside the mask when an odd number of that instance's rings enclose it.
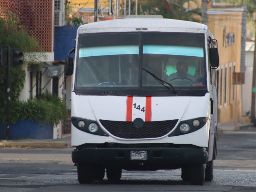
<instances>
[{"instance_id":1,"label":"red perforated brick lattice wall on the upper left building","mask_svg":"<svg viewBox=\"0 0 256 192\"><path fill-rule=\"evenodd\" d=\"M15 12L44 51L52 52L52 3L52 0L0 0L0 8L8 7Z\"/></svg>"}]
</instances>

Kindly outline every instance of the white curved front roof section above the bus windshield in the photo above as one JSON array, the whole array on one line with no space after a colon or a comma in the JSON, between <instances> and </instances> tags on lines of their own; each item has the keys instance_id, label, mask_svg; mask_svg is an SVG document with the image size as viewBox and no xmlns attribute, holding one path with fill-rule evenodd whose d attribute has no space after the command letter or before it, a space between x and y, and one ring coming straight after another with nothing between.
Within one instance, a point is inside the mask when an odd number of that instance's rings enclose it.
<instances>
[{"instance_id":1,"label":"white curved front roof section above the bus windshield","mask_svg":"<svg viewBox=\"0 0 256 192\"><path fill-rule=\"evenodd\" d=\"M173 31L205 33L207 26L197 22L161 18L129 18L84 24L80 33L124 31ZM85 31L83 30L85 29ZM79 33L79 32L78 32Z\"/></svg>"}]
</instances>

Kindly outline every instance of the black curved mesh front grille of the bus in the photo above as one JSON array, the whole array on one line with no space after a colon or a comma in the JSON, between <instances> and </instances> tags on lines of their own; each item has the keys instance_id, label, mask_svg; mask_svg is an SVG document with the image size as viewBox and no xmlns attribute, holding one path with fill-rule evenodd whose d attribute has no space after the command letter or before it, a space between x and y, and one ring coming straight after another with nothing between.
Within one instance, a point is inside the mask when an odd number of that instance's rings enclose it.
<instances>
[{"instance_id":1,"label":"black curved mesh front grille of the bus","mask_svg":"<svg viewBox=\"0 0 256 192\"><path fill-rule=\"evenodd\" d=\"M162 137L172 131L178 119L167 121L146 121L141 128L136 128L132 121L101 120L100 123L112 135L124 139L143 139Z\"/></svg>"}]
</instances>

